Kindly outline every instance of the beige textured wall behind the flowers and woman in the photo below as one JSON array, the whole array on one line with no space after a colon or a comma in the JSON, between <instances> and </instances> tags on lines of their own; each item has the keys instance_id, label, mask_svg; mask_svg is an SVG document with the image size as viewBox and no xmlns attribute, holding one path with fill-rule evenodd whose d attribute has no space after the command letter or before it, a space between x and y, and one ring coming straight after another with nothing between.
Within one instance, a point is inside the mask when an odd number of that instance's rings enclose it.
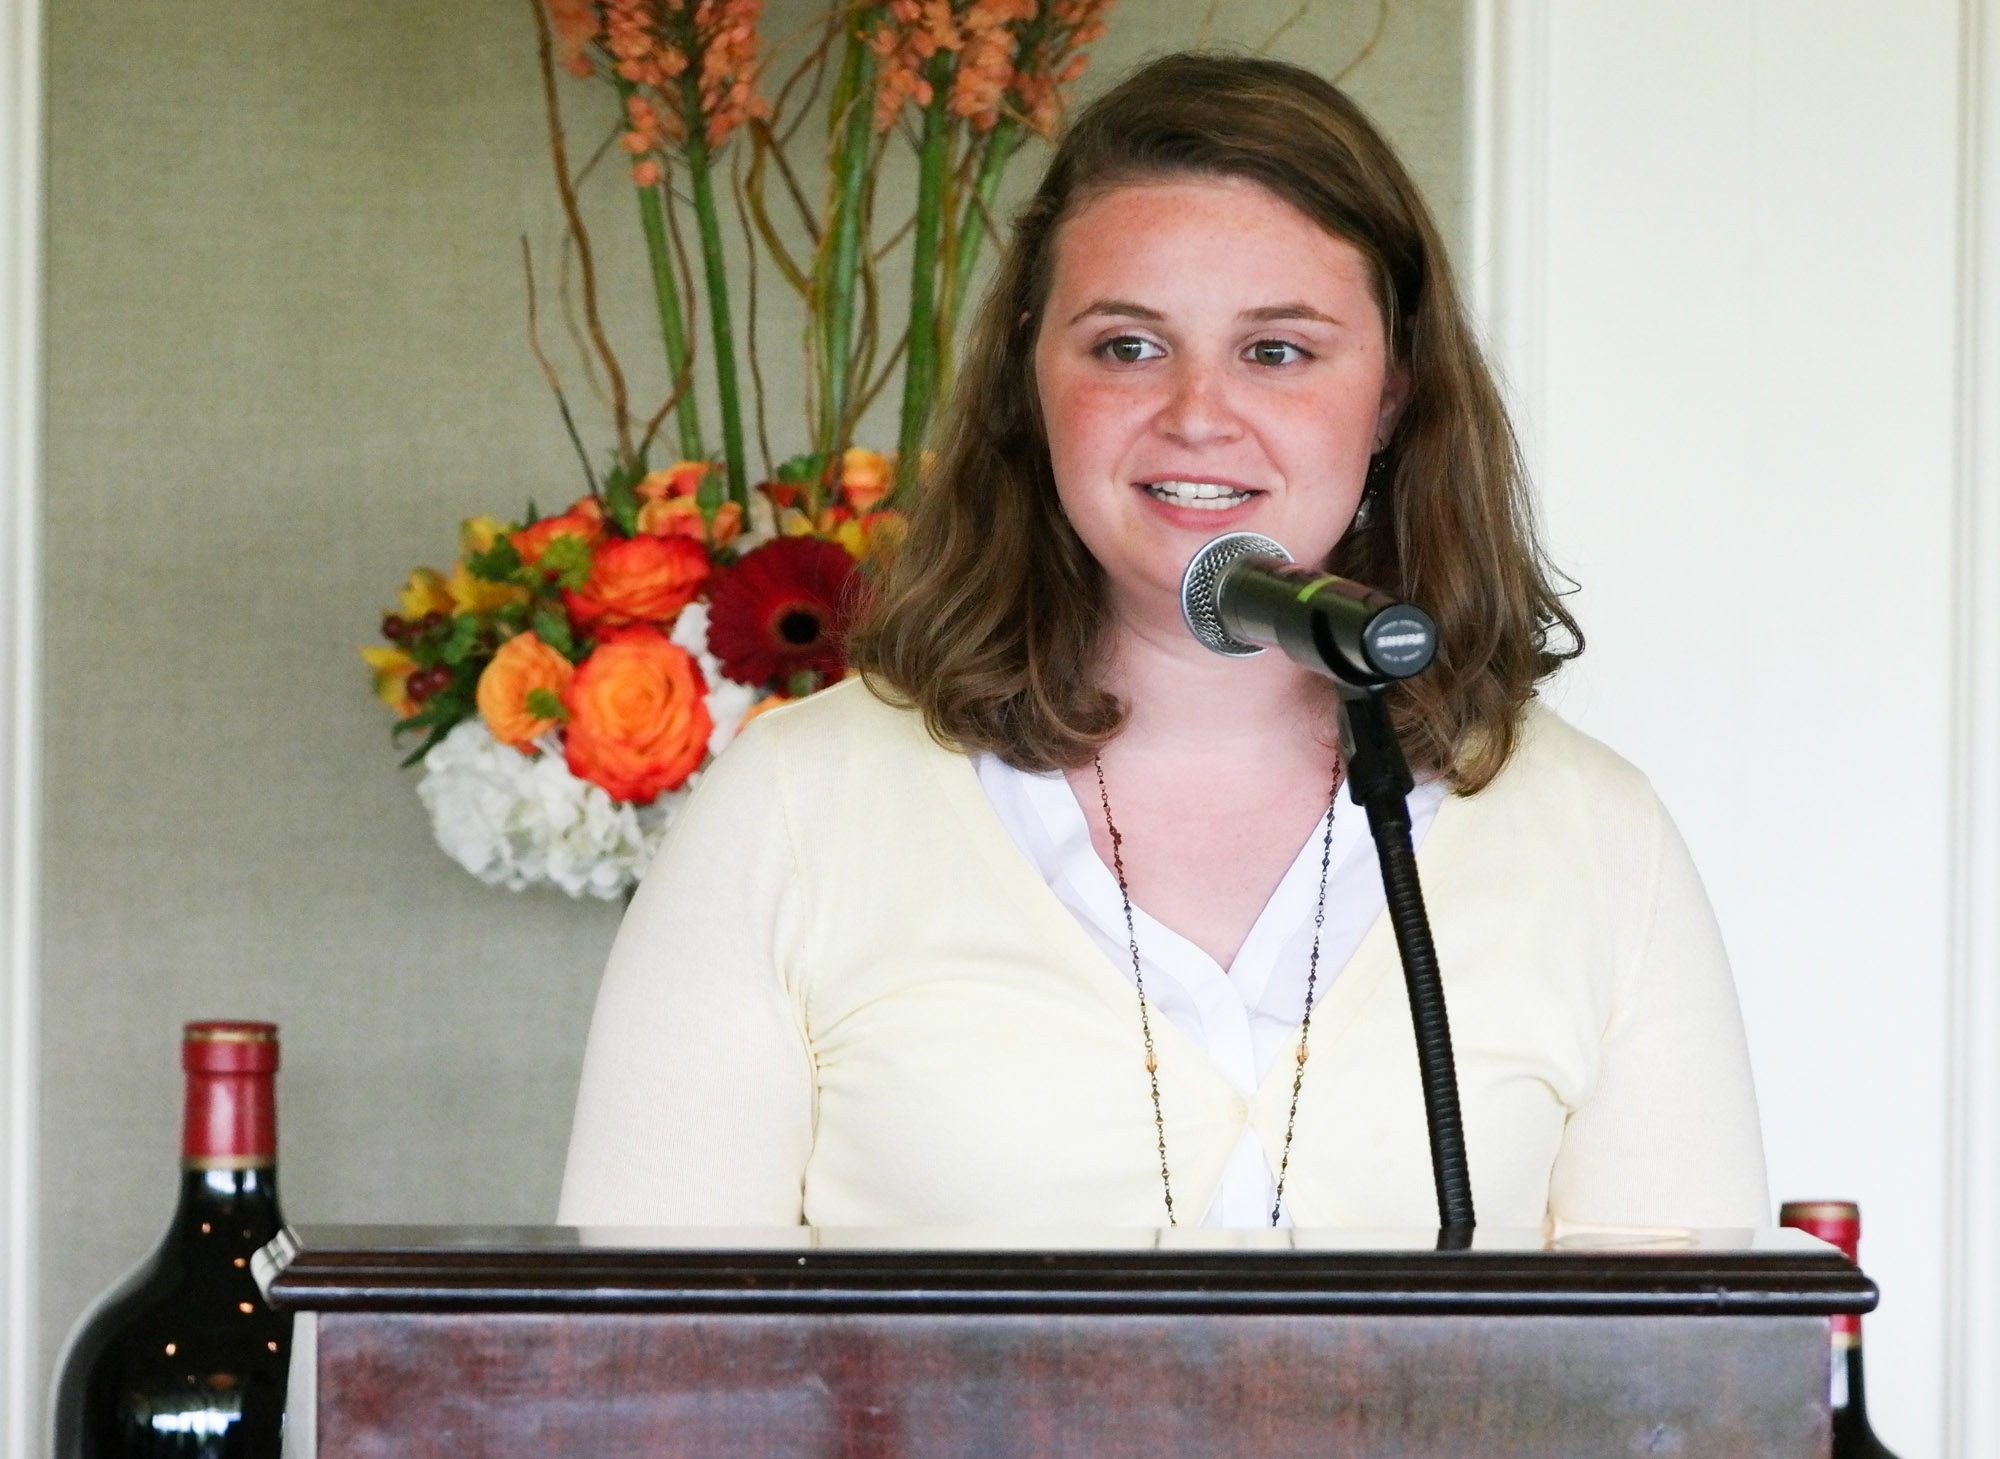
<instances>
[{"instance_id":1,"label":"beige textured wall behind the flowers and woman","mask_svg":"<svg viewBox=\"0 0 2000 1459\"><path fill-rule=\"evenodd\" d=\"M1290 10L1220 4L1212 38ZM802 14L774 0L768 30ZM1374 14L1318 0L1276 52L1338 70ZM516 238L556 236L526 6L64 0L48 24L52 1361L168 1217L188 1017L282 1023L292 1219L548 1219L616 909L450 865L354 658L458 518L576 490L522 336ZM1124 0L1088 82L1198 24ZM1390 0L1350 86L1456 230L1458 0ZM612 302L650 358L646 298ZM776 304L766 282L784 396Z\"/></svg>"}]
</instances>

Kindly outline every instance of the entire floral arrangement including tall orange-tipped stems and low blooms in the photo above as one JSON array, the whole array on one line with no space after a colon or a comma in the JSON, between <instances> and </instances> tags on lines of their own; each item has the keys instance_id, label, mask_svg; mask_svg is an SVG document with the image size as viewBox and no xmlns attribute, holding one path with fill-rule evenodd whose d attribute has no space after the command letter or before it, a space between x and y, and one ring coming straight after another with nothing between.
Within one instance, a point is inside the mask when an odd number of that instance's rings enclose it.
<instances>
[{"instance_id":1,"label":"entire floral arrangement including tall orange-tipped stems and low blooms","mask_svg":"<svg viewBox=\"0 0 2000 1459\"><path fill-rule=\"evenodd\" d=\"M1110 4L836 2L786 60L760 36L760 0L530 0L564 218L556 292L608 450L592 456L544 350L524 244L528 344L586 492L558 516L530 506L512 524L466 522L452 574L412 574L382 620L386 646L362 650L396 731L422 733L404 763L422 765L438 843L468 871L622 895L746 718L842 678L864 564L894 546L896 502L916 488L998 184L1020 144L1056 126ZM576 82L610 102L582 166L566 134ZM786 146L814 118L818 198ZM916 156L916 204L888 226L876 180L898 144ZM606 152L628 158L652 294L642 318L668 380L650 412L612 342L586 222L582 190ZM880 286L898 250L910 278L900 320ZM748 328L732 254L748 260ZM758 368L764 268L808 320L808 398L794 402L806 450L782 462ZM898 450L856 446L898 372ZM764 462L754 490L748 424ZM654 470L666 454L678 460Z\"/></svg>"}]
</instances>

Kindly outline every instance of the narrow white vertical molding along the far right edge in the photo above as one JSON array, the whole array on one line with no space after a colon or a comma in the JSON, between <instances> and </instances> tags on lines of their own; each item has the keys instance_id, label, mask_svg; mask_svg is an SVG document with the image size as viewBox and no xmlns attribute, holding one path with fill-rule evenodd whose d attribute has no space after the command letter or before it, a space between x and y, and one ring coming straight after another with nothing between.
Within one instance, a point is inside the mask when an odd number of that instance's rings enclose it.
<instances>
[{"instance_id":1,"label":"narrow white vertical molding along the far right edge","mask_svg":"<svg viewBox=\"0 0 2000 1459\"><path fill-rule=\"evenodd\" d=\"M2000 1453L2000 8L1960 4L1946 1455Z\"/></svg>"}]
</instances>

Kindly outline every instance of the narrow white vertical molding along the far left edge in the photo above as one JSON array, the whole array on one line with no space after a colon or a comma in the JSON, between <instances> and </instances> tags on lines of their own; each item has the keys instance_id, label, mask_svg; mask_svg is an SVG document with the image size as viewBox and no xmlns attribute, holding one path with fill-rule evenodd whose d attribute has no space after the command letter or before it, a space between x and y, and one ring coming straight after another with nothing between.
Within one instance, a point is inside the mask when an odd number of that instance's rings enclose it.
<instances>
[{"instance_id":1,"label":"narrow white vertical molding along the far left edge","mask_svg":"<svg viewBox=\"0 0 2000 1459\"><path fill-rule=\"evenodd\" d=\"M36 1071L42 6L0 0L0 1453L42 1453Z\"/></svg>"}]
</instances>

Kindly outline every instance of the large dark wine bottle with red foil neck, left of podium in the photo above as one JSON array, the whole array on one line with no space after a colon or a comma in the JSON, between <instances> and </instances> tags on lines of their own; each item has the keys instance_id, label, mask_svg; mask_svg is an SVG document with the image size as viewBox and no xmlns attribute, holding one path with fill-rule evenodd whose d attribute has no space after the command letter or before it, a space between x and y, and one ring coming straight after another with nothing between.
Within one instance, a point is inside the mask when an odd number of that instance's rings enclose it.
<instances>
[{"instance_id":1,"label":"large dark wine bottle with red foil neck, left of podium","mask_svg":"<svg viewBox=\"0 0 2000 1459\"><path fill-rule=\"evenodd\" d=\"M70 1337L56 1459L278 1459L292 1319L250 1253L278 1235L272 1023L188 1023L180 1209Z\"/></svg>"}]
</instances>

